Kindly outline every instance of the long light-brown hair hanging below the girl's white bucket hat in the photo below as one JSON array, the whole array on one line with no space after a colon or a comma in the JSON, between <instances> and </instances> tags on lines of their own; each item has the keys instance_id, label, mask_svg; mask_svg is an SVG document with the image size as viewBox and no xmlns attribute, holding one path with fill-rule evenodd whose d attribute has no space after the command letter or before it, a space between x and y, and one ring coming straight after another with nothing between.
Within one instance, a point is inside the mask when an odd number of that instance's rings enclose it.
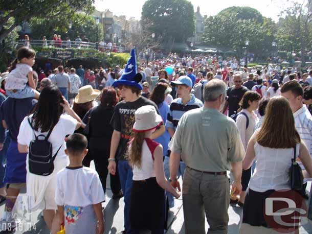
<instances>
[{"instance_id":1,"label":"long light-brown hair hanging below the girl's white bucket hat","mask_svg":"<svg viewBox=\"0 0 312 234\"><path fill-rule=\"evenodd\" d=\"M127 152L126 157L128 158L129 164L133 167L136 166L141 168L142 148L144 142L145 132L133 132L131 147Z\"/></svg>"}]
</instances>

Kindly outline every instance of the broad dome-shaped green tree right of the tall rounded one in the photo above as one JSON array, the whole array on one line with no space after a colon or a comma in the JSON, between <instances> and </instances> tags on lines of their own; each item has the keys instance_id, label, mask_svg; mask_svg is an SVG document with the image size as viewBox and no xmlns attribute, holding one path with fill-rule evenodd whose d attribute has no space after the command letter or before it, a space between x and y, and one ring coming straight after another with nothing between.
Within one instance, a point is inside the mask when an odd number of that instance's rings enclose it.
<instances>
[{"instance_id":1,"label":"broad dome-shaped green tree right of the tall rounded one","mask_svg":"<svg viewBox=\"0 0 312 234\"><path fill-rule=\"evenodd\" d=\"M255 15L255 17L252 17ZM249 52L260 58L272 54L275 23L249 7L227 8L205 22L204 41L208 44L228 46L243 55L245 41L249 40Z\"/></svg>"}]
</instances>

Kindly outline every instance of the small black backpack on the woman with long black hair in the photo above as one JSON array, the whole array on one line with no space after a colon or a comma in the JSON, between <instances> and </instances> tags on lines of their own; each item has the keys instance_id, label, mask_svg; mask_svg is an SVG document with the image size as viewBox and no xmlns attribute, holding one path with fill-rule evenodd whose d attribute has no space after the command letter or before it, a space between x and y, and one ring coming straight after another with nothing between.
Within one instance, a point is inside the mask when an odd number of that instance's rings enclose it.
<instances>
[{"instance_id":1,"label":"small black backpack on the woman with long black hair","mask_svg":"<svg viewBox=\"0 0 312 234\"><path fill-rule=\"evenodd\" d=\"M58 151L61 149L62 145L56 151L56 153L52 156L52 152L53 152L52 144L48 142L48 139L54 127L52 127L49 130L47 136L44 136L43 134L36 136L34 128L29 118L27 118L27 120L35 135L35 139L32 140L29 144L29 152L28 152L29 171L33 174L41 175L41 176L51 175L54 170L53 161ZM43 139L39 139L39 137Z\"/></svg>"}]
</instances>

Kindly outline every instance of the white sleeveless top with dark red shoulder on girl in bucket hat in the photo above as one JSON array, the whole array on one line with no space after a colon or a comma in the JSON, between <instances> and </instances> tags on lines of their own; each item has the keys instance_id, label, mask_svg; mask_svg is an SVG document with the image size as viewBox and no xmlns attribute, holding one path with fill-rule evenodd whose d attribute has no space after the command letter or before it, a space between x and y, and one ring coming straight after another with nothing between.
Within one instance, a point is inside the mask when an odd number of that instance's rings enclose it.
<instances>
[{"instance_id":1,"label":"white sleeveless top with dark red shoulder on girl in bucket hat","mask_svg":"<svg viewBox=\"0 0 312 234\"><path fill-rule=\"evenodd\" d=\"M144 180L155 177L154 169L154 150L159 143L150 138L145 138L142 147L141 168L133 166L133 180ZM131 147L131 145L129 146Z\"/></svg>"}]
</instances>

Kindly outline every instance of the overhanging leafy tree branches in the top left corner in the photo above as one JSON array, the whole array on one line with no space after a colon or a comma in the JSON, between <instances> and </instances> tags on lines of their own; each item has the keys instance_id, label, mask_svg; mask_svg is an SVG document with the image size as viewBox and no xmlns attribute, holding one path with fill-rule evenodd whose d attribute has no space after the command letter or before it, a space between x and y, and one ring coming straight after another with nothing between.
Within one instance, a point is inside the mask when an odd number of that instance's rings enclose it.
<instances>
[{"instance_id":1,"label":"overhanging leafy tree branches in the top left corner","mask_svg":"<svg viewBox=\"0 0 312 234\"><path fill-rule=\"evenodd\" d=\"M33 17L51 19L67 16L70 19L76 11L93 12L93 3L94 0L10 0L9 2L2 0L0 1L0 41L23 21ZM13 23L5 28L11 17L14 18Z\"/></svg>"}]
</instances>

